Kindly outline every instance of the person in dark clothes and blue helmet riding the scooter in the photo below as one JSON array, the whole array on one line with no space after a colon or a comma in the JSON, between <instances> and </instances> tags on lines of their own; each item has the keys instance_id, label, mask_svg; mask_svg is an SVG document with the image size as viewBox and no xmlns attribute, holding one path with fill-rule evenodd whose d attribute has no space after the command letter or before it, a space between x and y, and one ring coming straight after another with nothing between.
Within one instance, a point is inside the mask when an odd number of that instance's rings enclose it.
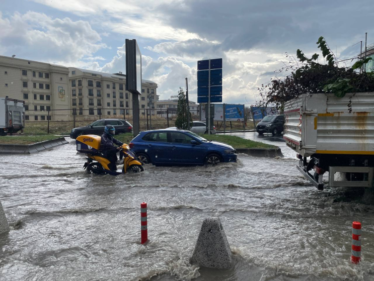
<instances>
[{"instance_id":1,"label":"person in dark clothes and blue helmet riding the scooter","mask_svg":"<svg viewBox=\"0 0 374 281\"><path fill-rule=\"evenodd\" d=\"M123 159L120 154L120 162L117 162L117 152L121 150L120 147L116 147L114 144L121 146L122 142L116 140L113 135L116 129L112 125L106 125L104 133L101 136L100 150L104 157L110 161L108 168L112 171L117 170L116 164L123 164ZM122 163L121 163L122 162Z\"/></svg>"}]
</instances>

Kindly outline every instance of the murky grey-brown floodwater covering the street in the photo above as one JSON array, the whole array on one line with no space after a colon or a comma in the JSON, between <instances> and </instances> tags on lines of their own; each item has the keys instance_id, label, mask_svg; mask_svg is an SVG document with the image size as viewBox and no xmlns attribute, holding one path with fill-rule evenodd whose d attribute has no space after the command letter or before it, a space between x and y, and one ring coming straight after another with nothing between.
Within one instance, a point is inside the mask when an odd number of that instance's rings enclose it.
<instances>
[{"instance_id":1,"label":"murky grey-brown floodwater covering the street","mask_svg":"<svg viewBox=\"0 0 374 281\"><path fill-rule=\"evenodd\" d=\"M0 281L369 281L374 205L362 189L318 191L293 158L239 155L238 163L87 175L75 141L0 156ZM140 203L150 242L140 244ZM201 223L220 217L228 270L190 264ZM350 262L352 221L363 223L362 262Z\"/></svg>"}]
</instances>

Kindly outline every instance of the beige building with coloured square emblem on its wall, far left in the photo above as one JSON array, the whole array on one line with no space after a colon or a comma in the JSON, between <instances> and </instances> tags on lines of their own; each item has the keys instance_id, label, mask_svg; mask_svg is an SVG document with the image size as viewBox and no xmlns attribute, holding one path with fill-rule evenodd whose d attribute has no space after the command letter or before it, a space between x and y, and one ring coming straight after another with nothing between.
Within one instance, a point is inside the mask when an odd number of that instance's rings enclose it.
<instances>
[{"instance_id":1,"label":"beige building with coloured square emblem on its wall, far left","mask_svg":"<svg viewBox=\"0 0 374 281\"><path fill-rule=\"evenodd\" d=\"M24 100L25 121L69 120L68 83L67 67L0 56L0 97Z\"/></svg>"}]
</instances>

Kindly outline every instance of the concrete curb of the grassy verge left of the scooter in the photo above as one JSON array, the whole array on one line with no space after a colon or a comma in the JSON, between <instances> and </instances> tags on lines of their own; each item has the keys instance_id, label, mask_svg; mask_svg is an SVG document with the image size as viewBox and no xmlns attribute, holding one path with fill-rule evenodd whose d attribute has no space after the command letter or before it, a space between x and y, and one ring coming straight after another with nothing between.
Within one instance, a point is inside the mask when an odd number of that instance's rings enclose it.
<instances>
[{"instance_id":1,"label":"concrete curb of the grassy verge left of the scooter","mask_svg":"<svg viewBox=\"0 0 374 281\"><path fill-rule=\"evenodd\" d=\"M30 154L69 143L64 137L33 144L0 144L0 154Z\"/></svg>"}]
</instances>

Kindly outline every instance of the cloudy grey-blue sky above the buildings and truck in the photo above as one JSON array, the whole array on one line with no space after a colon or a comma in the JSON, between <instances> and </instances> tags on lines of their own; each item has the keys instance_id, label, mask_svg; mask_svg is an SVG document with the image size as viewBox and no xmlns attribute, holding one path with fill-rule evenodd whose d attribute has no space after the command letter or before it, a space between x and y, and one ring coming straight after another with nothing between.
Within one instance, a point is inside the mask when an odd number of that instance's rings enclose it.
<instances>
[{"instance_id":1,"label":"cloudy grey-blue sky above the buildings and truck","mask_svg":"<svg viewBox=\"0 0 374 281\"><path fill-rule=\"evenodd\" d=\"M342 59L374 43L372 0L0 0L0 55L125 73L137 39L143 78L160 99L185 88L197 100L197 61L223 58L223 101L255 102L287 61L318 52L324 36ZM353 46L353 47L352 47Z\"/></svg>"}]
</instances>

